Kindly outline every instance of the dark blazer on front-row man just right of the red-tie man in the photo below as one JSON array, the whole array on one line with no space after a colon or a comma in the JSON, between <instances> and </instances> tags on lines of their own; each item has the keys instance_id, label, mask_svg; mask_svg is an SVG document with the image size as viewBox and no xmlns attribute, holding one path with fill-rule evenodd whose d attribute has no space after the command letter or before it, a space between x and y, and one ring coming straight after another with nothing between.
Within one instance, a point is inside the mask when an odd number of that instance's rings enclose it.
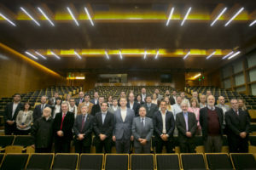
<instances>
[{"instance_id":1,"label":"dark blazer on front-row man just right of the red-tie man","mask_svg":"<svg viewBox=\"0 0 256 170\"><path fill-rule=\"evenodd\" d=\"M91 133L92 133L92 124L93 116L87 114L86 121L84 122L84 128L81 131L82 127L83 114L78 115L73 125L73 133L75 134L74 141L77 141L79 133L84 134L83 144L84 146L90 146L91 144Z\"/></svg>"}]
</instances>

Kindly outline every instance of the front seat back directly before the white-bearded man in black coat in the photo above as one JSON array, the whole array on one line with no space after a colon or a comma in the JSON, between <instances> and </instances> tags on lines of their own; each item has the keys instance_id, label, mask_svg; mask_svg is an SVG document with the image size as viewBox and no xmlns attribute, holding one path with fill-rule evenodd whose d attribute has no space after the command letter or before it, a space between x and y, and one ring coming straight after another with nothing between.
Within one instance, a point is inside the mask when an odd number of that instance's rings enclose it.
<instances>
[{"instance_id":1,"label":"front seat back directly before the white-bearded man in black coat","mask_svg":"<svg viewBox=\"0 0 256 170\"><path fill-rule=\"evenodd\" d=\"M32 154L30 157L28 164L26 166L26 170L33 169L50 169L53 163L53 158L55 154Z\"/></svg>"}]
</instances>

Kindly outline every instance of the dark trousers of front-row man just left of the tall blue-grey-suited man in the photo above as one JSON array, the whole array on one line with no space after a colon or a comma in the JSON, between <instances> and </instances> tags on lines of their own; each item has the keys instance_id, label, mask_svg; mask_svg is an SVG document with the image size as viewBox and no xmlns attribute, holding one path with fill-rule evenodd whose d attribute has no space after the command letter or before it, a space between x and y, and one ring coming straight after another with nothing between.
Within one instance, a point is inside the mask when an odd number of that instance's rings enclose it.
<instances>
[{"instance_id":1,"label":"dark trousers of front-row man just left of the tall blue-grey-suited man","mask_svg":"<svg viewBox=\"0 0 256 170\"><path fill-rule=\"evenodd\" d=\"M100 138L95 138L95 147L96 147L96 153L102 153L102 149L104 147L105 153L111 153L111 138L106 138L105 140L101 140Z\"/></svg>"}]
</instances>

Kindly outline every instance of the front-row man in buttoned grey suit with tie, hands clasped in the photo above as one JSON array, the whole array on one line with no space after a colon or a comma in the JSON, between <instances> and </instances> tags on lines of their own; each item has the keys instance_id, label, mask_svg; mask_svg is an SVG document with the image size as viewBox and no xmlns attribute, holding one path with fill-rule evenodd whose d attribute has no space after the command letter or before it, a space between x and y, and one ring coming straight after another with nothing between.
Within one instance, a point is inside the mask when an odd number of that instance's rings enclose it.
<instances>
[{"instance_id":1,"label":"front-row man in buttoned grey suit with tie, hands clasped","mask_svg":"<svg viewBox=\"0 0 256 170\"><path fill-rule=\"evenodd\" d=\"M154 131L152 119L146 117L146 108L141 106L139 116L132 122L132 135L134 136L135 153L150 153L151 137Z\"/></svg>"}]
</instances>

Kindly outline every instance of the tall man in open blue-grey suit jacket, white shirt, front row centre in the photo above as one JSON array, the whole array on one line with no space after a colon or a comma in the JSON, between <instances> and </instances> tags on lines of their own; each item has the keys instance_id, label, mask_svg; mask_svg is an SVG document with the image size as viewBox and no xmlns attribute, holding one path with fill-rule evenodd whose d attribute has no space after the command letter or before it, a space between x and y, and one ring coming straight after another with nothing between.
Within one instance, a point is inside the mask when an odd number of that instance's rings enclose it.
<instances>
[{"instance_id":1,"label":"tall man in open blue-grey suit jacket, white shirt, front row centre","mask_svg":"<svg viewBox=\"0 0 256 170\"><path fill-rule=\"evenodd\" d=\"M134 118L134 111L127 108L127 99L121 98L120 108L114 112L113 141L117 153L129 153L131 141L131 126Z\"/></svg>"}]
</instances>

